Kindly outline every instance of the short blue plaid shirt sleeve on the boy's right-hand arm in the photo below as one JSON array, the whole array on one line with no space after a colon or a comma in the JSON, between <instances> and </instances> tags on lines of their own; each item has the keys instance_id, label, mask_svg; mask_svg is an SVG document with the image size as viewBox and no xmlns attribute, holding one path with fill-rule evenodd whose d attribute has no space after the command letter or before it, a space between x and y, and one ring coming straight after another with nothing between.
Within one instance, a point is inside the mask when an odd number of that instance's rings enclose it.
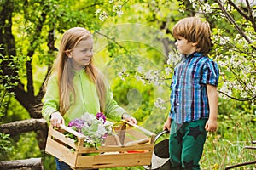
<instances>
[{"instance_id":1,"label":"short blue plaid shirt sleeve on the boy's right-hand arm","mask_svg":"<svg viewBox=\"0 0 256 170\"><path fill-rule=\"evenodd\" d=\"M218 65L214 61L208 61L203 66L203 73L201 83L211 84L212 86L218 86L219 70Z\"/></svg>"}]
</instances>

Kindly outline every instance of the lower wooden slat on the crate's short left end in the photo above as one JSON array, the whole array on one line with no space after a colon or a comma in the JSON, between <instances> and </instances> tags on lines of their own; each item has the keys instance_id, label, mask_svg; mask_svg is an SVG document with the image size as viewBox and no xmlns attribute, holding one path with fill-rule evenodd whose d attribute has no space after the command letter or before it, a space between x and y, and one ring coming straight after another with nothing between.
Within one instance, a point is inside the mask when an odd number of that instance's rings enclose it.
<instances>
[{"instance_id":1,"label":"lower wooden slat on the crate's short left end","mask_svg":"<svg viewBox=\"0 0 256 170\"><path fill-rule=\"evenodd\" d=\"M70 149L67 148L67 146L64 146L56 142L54 139L51 139L50 137L48 137L47 139L45 152L61 159L61 161L68 162L68 164L72 167L75 166L77 152L71 151Z\"/></svg>"}]
</instances>

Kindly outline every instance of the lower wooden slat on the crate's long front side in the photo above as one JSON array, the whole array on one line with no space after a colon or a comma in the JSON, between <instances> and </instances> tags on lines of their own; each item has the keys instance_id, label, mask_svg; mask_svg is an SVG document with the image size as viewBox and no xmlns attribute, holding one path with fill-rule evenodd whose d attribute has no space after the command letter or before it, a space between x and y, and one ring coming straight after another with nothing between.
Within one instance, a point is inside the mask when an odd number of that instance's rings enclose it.
<instances>
[{"instance_id":1,"label":"lower wooden slat on the crate's long front side","mask_svg":"<svg viewBox=\"0 0 256 170\"><path fill-rule=\"evenodd\" d=\"M136 167L149 165L152 152L135 154L110 154L98 156L78 156L76 167Z\"/></svg>"}]
</instances>

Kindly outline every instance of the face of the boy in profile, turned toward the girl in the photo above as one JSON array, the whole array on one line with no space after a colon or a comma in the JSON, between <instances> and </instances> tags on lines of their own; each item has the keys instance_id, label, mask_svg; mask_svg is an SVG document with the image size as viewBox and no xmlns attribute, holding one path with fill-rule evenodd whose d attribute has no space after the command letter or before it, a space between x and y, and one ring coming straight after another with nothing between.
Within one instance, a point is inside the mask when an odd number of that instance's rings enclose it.
<instances>
[{"instance_id":1,"label":"face of the boy in profile, turned toward the girl","mask_svg":"<svg viewBox=\"0 0 256 170\"><path fill-rule=\"evenodd\" d=\"M175 45L177 51L183 55L192 54L196 51L196 42L188 42L188 40L183 37L177 37Z\"/></svg>"}]
</instances>

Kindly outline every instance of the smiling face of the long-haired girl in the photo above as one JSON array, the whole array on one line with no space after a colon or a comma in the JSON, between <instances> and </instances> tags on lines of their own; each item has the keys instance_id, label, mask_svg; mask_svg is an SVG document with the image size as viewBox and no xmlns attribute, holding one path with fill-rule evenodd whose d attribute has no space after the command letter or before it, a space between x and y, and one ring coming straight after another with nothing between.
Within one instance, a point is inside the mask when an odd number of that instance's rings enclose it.
<instances>
[{"instance_id":1,"label":"smiling face of the long-haired girl","mask_svg":"<svg viewBox=\"0 0 256 170\"><path fill-rule=\"evenodd\" d=\"M77 71L90 64L90 59L93 56L93 40L88 38L81 40L71 51L69 58L72 59L73 68Z\"/></svg>"}]
</instances>

